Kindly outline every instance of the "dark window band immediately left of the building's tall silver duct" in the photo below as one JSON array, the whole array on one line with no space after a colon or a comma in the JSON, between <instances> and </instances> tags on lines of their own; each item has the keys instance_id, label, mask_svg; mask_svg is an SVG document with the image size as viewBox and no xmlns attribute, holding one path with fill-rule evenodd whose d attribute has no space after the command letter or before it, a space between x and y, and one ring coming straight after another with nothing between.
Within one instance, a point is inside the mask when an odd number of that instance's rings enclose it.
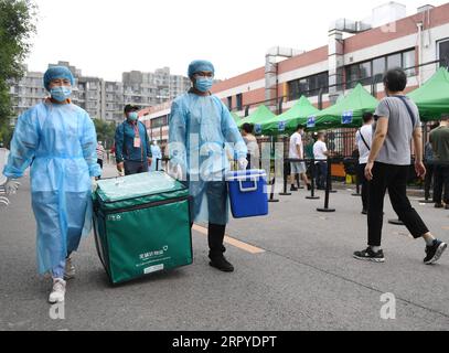
<instances>
[{"instance_id":1,"label":"dark window band immediately left of the building's tall silver duct","mask_svg":"<svg viewBox=\"0 0 449 353\"><path fill-rule=\"evenodd\" d=\"M329 93L329 73L321 73L313 76L290 81L288 83L289 100L301 98L301 96L312 97Z\"/></svg>"}]
</instances>

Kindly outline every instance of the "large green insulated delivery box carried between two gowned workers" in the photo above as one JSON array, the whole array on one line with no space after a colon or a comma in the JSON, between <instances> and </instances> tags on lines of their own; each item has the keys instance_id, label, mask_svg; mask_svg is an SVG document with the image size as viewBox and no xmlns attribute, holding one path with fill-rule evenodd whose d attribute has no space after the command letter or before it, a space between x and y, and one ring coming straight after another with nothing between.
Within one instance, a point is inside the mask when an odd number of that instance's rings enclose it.
<instances>
[{"instance_id":1,"label":"large green insulated delivery box carried between two gowned workers","mask_svg":"<svg viewBox=\"0 0 449 353\"><path fill-rule=\"evenodd\" d=\"M114 285L191 265L189 190L163 172L98 181L94 229Z\"/></svg>"}]
</instances>

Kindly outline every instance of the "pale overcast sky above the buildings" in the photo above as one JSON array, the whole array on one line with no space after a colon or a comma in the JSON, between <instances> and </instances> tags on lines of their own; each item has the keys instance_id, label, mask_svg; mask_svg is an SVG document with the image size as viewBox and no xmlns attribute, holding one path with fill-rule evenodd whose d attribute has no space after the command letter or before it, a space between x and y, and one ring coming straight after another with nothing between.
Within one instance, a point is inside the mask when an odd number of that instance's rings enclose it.
<instances>
[{"instance_id":1,"label":"pale overcast sky above the buildings","mask_svg":"<svg viewBox=\"0 0 449 353\"><path fill-rule=\"evenodd\" d=\"M225 79L265 65L272 46L328 44L331 22L363 20L386 0L35 0L38 34L29 71L67 61L83 75L121 81L132 69L169 66L186 75L192 60L214 63ZM440 0L403 0L407 14Z\"/></svg>"}]
</instances>

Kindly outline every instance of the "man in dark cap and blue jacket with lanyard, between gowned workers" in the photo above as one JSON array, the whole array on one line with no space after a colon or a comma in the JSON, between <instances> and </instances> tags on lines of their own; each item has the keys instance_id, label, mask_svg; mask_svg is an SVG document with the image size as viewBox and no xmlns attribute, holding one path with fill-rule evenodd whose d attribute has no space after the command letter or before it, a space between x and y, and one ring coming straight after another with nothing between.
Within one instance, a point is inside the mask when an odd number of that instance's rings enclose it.
<instances>
[{"instance_id":1,"label":"man in dark cap and blue jacket with lanyard, between gowned workers","mask_svg":"<svg viewBox=\"0 0 449 353\"><path fill-rule=\"evenodd\" d=\"M132 175L148 172L152 163L151 146L143 122L139 121L139 108L125 107L126 121L116 130L116 161L120 174Z\"/></svg>"}]
</instances>

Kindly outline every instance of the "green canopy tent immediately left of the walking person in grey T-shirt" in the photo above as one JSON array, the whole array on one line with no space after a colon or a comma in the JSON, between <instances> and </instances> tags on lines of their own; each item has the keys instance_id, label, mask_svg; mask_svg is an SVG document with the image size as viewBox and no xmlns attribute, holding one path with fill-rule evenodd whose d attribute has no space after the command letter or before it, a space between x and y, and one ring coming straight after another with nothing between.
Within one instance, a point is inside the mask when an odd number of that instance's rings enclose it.
<instances>
[{"instance_id":1,"label":"green canopy tent immediately left of the walking person in grey T-shirt","mask_svg":"<svg viewBox=\"0 0 449 353\"><path fill-rule=\"evenodd\" d=\"M309 130L361 127L363 114L374 113L377 105L377 99L359 84L335 105L310 116L307 127Z\"/></svg>"}]
</instances>

